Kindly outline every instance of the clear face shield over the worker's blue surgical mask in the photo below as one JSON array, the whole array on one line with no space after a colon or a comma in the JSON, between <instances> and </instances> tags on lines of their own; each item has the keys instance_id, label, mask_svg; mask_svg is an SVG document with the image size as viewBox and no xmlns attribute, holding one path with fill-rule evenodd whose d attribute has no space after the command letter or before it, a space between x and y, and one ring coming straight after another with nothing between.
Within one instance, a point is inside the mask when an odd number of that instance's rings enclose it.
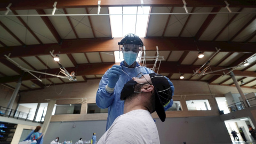
<instances>
[{"instance_id":1,"label":"clear face shield over the worker's blue surgical mask","mask_svg":"<svg viewBox=\"0 0 256 144\"><path fill-rule=\"evenodd\" d=\"M137 58L141 58L142 46L137 44L124 44L123 47L121 47L119 45L119 59L121 59L120 55L122 54L127 65L131 66Z\"/></svg>"}]
</instances>

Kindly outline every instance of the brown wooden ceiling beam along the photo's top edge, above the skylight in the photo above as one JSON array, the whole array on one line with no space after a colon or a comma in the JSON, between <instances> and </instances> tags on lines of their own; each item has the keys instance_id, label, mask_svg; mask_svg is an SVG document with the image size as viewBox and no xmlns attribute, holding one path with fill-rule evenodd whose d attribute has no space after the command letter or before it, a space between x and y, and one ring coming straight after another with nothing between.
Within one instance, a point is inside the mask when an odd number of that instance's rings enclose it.
<instances>
[{"instance_id":1,"label":"brown wooden ceiling beam along the photo's top edge, above the skylight","mask_svg":"<svg viewBox=\"0 0 256 144\"><path fill-rule=\"evenodd\" d=\"M32 9L53 9L52 5L54 1L51 0L35 0L33 4L29 0L18 1L13 0L2 1L0 3L0 11L5 11L6 6L12 3L12 10L32 10ZM182 1L177 0L162 0L162 1L150 1L144 0L144 6L174 6L174 7L183 7L184 4ZM214 1L205 1L205 0L186 0L187 7L226 7L227 5L222 0L214 0ZM230 4L229 7L256 7L255 2L251 0L243 0L243 1L228 1ZM98 0L91 1L58 1L57 8L58 9L67 9L67 8L75 8L75 7L98 7ZM113 0L105 0L100 3L101 7L108 6L141 6L140 1L113 1Z\"/></svg>"}]
</instances>

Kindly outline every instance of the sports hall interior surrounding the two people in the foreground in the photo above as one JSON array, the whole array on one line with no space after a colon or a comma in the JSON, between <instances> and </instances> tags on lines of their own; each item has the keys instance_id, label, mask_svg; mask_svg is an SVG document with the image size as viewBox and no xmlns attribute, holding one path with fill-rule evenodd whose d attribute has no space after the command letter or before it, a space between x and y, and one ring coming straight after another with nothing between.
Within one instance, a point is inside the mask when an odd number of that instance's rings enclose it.
<instances>
[{"instance_id":1,"label":"sports hall interior surrounding the two people in the foreground","mask_svg":"<svg viewBox=\"0 0 256 144\"><path fill-rule=\"evenodd\" d=\"M239 127L252 143L240 119L255 129L255 2L12 1L0 14L1 143L38 125L43 143L99 140L108 109L97 90L126 34L145 46L138 63L175 87L165 122L151 114L161 143L234 143Z\"/></svg>"}]
</instances>

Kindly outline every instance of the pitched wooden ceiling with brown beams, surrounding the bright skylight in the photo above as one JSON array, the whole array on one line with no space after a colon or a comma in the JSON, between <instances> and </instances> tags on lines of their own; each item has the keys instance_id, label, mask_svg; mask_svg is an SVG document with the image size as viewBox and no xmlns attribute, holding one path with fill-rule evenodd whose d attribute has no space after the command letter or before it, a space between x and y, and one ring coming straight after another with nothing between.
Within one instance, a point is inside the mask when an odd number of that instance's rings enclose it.
<instances>
[{"instance_id":1,"label":"pitched wooden ceiling with brown beams, surrounding the bright skylight","mask_svg":"<svg viewBox=\"0 0 256 144\"><path fill-rule=\"evenodd\" d=\"M159 55L164 56L158 73L172 80L234 86L231 77L224 75L223 71L193 76L193 70L204 65L217 47L221 50L211 59L211 69L208 71L237 66L247 60L249 66L238 67L233 72L237 81L244 82L242 87L255 89L256 3L249 0L227 2L233 13L228 13L225 2L219 0L187 0L190 14L186 13L182 1L143 1L143 6L151 7L152 14L149 15L145 37L141 39L146 46L147 56L156 55L156 46ZM4 15L10 3L12 12ZM57 3L55 15L45 17L44 14L51 14L53 10L50 0L43 3L28 0L0 2L0 83L14 88L22 73L20 68L4 57L9 53L22 67L56 74L59 65L50 56L49 51L52 50L55 50L54 54L60 51L62 65L68 71L75 71L77 82L101 78L115 64L114 51L118 51L117 42L122 39L112 36L107 15L109 7L141 6L141 1L101 1L100 14L106 15L57 16L97 14L97 4L95 0L62 0ZM30 14L37 16L10 16ZM198 51L204 53L204 58L197 58ZM185 78L179 79L180 74ZM44 89L45 85L51 83L77 83L42 74L41 79L43 82L25 73L20 90ZM33 84L35 87L31 87Z\"/></svg>"}]
</instances>

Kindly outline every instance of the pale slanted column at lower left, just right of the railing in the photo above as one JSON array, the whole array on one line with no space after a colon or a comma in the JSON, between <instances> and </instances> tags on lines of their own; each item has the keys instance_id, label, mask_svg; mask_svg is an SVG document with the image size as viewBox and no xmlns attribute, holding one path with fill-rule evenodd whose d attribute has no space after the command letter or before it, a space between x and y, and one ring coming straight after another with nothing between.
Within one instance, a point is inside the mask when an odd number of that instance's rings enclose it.
<instances>
[{"instance_id":1,"label":"pale slanted column at lower left, just right of the railing","mask_svg":"<svg viewBox=\"0 0 256 144\"><path fill-rule=\"evenodd\" d=\"M42 132L45 134L45 132L47 131L48 129L48 126L50 124L50 121L51 121L51 117L52 117L52 110L54 108L54 105L56 103L56 100L50 100L48 102L48 107L47 107L47 111L46 111L46 114L45 114L45 117L44 117L44 124L42 126Z\"/></svg>"}]
</instances>

